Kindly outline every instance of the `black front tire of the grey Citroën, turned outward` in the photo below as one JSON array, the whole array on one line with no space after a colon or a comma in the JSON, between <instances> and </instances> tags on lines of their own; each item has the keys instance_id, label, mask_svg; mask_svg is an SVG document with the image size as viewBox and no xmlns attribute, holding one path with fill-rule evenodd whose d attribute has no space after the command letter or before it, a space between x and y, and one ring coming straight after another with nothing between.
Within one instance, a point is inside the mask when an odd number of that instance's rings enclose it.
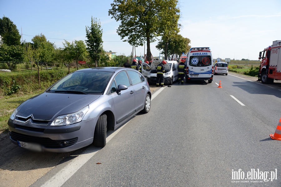
<instances>
[{"instance_id":1,"label":"black front tire of the grey Citro\u00ebn, turned outward","mask_svg":"<svg viewBox=\"0 0 281 187\"><path fill-rule=\"evenodd\" d=\"M106 145L106 114L101 115L96 122L96 128L94 132L94 146L104 147Z\"/></svg>"}]
</instances>

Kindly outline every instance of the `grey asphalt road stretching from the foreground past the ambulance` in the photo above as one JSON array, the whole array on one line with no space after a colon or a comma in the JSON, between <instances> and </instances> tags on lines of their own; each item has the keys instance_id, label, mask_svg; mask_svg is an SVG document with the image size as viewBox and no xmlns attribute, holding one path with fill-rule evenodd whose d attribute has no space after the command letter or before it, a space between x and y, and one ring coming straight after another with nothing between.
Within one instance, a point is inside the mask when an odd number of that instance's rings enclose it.
<instances>
[{"instance_id":1,"label":"grey asphalt road stretching from the foreground past the ambulance","mask_svg":"<svg viewBox=\"0 0 281 187\"><path fill-rule=\"evenodd\" d=\"M281 141L269 138L281 117L280 97L276 88L230 74L211 84L174 84L103 149L68 157L32 186L281 186ZM70 164L77 170L65 169ZM253 179L234 179L239 169ZM269 181L254 180L251 169Z\"/></svg>"}]
</instances>

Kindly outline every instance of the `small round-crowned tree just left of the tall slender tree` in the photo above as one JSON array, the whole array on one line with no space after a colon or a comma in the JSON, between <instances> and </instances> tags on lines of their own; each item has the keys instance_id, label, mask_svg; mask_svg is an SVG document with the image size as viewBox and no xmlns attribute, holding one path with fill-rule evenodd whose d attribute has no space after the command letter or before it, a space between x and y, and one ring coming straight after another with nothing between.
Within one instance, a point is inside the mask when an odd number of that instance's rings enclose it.
<instances>
[{"instance_id":1,"label":"small round-crowned tree just left of the tall slender tree","mask_svg":"<svg viewBox=\"0 0 281 187\"><path fill-rule=\"evenodd\" d=\"M75 60L78 70L78 59L84 59L87 55L86 45L82 40L75 40L71 43L69 41L65 40L65 43L63 43L64 51L66 52L68 59Z\"/></svg>"}]
</instances>

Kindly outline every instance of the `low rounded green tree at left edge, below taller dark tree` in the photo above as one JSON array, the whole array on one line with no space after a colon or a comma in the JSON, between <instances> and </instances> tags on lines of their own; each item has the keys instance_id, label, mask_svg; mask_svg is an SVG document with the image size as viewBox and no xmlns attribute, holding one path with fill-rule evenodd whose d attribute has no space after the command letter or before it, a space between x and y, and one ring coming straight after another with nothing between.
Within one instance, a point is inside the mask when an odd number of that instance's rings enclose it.
<instances>
[{"instance_id":1,"label":"low rounded green tree at left edge, below taller dark tree","mask_svg":"<svg viewBox=\"0 0 281 187\"><path fill-rule=\"evenodd\" d=\"M0 46L0 61L6 62L9 70L13 70L15 66L23 61L24 48L21 45L8 46L3 43Z\"/></svg>"}]
</instances>

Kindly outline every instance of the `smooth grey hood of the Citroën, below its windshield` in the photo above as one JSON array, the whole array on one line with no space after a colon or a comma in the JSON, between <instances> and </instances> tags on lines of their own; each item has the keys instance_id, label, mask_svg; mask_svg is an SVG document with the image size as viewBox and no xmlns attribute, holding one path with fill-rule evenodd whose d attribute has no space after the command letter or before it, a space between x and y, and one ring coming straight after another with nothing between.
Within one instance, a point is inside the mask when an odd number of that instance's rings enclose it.
<instances>
[{"instance_id":1,"label":"smooth grey hood of the Citro\u00ebn, below its windshield","mask_svg":"<svg viewBox=\"0 0 281 187\"><path fill-rule=\"evenodd\" d=\"M17 116L52 120L63 114L74 113L87 106L100 95L42 93L28 99L18 107Z\"/></svg>"}]
</instances>

